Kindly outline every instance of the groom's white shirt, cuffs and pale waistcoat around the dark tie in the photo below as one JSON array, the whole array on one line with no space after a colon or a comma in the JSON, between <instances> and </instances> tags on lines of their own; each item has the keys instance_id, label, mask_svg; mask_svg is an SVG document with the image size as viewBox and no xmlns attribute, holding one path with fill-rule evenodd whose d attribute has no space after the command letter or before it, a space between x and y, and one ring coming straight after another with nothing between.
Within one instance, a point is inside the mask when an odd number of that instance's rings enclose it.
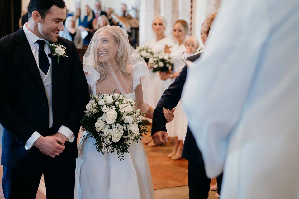
<instances>
[{"instance_id":1,"label":"groom's white shirt, cuffs and pale waistcoat around the dark tie","mask_svg":"<svg viewBox=\"0 0 299 199\"><path fill-rule=\"evenodd\" d=\"M40 77L43 81L44 87L45 87L45 92L47 95L47 99L48 99L48 104L49 104L49 128L51 128L53 126L53 110L52 110L52 73L51 73L51 69L52 69L52 59L48 56L49 59L49 63L50 63L50 67L48 70L48 73L45 75L44 72L42 72L42 70L39 68L39 60L38 60L38 49L39 49L39 45L37 43L35 43L37 40L44 40L46 43L49 43L49 41L46 41L45 39L40 39L38 36L34 35L28 28L27 28L27 23L25 23L25 25L23 26L23 30L24 33L26 35L26 38L28 40L28 43L30 45L30 48L32 50L33 56L35 58L37 67L39 69L40 72ZM50 51L50 47L45 45L45 53L46 55L48 55L49 53L51 53ZM58 130L59 133L62 133L63 135L65 135L67 137L67 141L69 142L73 142L75 139L74 133L66 126L61 126ZM34 142L40 137L40 133L38 133L37 131L35 131L31 137L27 140L26 144L25 144L25 149L29 150Z\"/></svg>"}]
</instances>

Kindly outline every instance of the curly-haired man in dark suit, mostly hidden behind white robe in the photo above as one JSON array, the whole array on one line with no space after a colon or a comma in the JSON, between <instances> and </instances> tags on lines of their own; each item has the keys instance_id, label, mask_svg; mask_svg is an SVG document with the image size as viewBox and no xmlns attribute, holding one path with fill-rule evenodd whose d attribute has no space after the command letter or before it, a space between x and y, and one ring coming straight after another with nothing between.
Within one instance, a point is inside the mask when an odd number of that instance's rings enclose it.
<instances>
[{"instance_id":1,"label":"curly-haired man in dark suit, mostly hidden behind white robe","mask_svg":"<svg viewBox=\"0 0 299 199\"><path fill-rule=\"evenodd\" d=\"M209 15L204 22L202 29L210 29L216 13ZM207 26L207 27L206 27ZM205 35L206 37L208 36ZM206 40L204 40L206 42ZM188 57L190 61L195 61L201 56L201 53ZM165 110L172 110L177 106L182 97L183 86L186 81L188 67L185 65L175 81L164 91L154 110L152 137L156 144L162 144L168 141L168 132L166 130L166 120L163 119ZM192 85L194 87L194 85ZM164 108L165 107L165 108ZM188 160L188 187L190 199L207 199L209 196L211 179L206 176L205 165L202 154L198 149L195 139L187 128L187 133L183 145L182 156ZM220 187L218 187L220 189Z\"/></svg>"}]
</instances>

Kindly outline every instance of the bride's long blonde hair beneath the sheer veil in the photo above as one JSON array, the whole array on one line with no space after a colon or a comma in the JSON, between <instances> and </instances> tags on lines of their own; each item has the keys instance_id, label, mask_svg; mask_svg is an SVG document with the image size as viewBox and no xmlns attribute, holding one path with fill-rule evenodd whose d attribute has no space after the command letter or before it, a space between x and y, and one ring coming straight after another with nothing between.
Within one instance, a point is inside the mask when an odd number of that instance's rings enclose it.
<instances>
[{"instance_id":1,"label":"bride's long blonde hair beneath the sheer veil","mask_svg":"<svg viewBox=\"0 0 299 199\"><path fill-rule=\"evenodd\" d=\"M118 26L108 25L99 29L97 33L101 31L106 31L106 33L110 34L115 43L118 44L119 51L116 54L115 63L126 76L130 75L127 66L130 62L132 62L132 60L128 35L126 35ZM100 81L106 80L107 72L105 71L103 64L97 61L97 56L94 58L96 59L95 63L97 63L97 67L95 68L97 68L97 71L100 73Z\"/></svg>"}]
</instances>

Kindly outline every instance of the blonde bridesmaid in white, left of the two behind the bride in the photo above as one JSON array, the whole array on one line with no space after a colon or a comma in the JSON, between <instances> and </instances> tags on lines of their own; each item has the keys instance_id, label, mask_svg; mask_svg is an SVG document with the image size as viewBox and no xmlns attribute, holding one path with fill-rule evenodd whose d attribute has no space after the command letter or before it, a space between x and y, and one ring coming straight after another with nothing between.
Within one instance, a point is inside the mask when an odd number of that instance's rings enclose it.
<instances>
[{"instance_id":1,"label":"blonde bridesmaid in white, left of the two behind the bride","mask_svg":"<svg viewBox=\"0 0 299 199\"><path fill-rule=\"evenodd\" d=\"M164 34L166 30L166 19L163 16L154 17L152 29L154 31L155 37L147 41L145 43L145 46L151 48L154 53L158 53L160 51L164 52L166 47L170 47L175 44L171 38L166 37ZM156 104L158 103L162 93L169 86L170 79L166 81L161 80L159 73L154 73L152 68L150 68L150 78L152 81L153 88L156 88L153 91L154 104L150 105L152 107L156 107ZM152 141L150 141L150 143L148 144L149 146L156 146L156 144L154 144Z\"/></svg>"}]
</instances>

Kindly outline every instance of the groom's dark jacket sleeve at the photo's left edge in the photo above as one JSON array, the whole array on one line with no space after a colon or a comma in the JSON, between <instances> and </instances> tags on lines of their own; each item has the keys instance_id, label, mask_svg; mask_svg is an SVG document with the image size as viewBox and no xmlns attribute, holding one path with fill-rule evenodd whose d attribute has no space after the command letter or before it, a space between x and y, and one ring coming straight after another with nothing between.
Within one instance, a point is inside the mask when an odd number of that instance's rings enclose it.
<instances>
[{"instance_id":1,"label":"groom's dark jacket sleeve at the photo's left edge","mask_svg":"<svg viewBox=\"0 0 299 199\"><path fill-rule=\"evenodd\" d=\"M21 145L25 145L36 129L20 116L12 104L11 90L9 85L7 85L9 82L7 56L4 55L1 47L0 61L0 123L11 133L13 138Z\"/></svg>"}]
</instances>

